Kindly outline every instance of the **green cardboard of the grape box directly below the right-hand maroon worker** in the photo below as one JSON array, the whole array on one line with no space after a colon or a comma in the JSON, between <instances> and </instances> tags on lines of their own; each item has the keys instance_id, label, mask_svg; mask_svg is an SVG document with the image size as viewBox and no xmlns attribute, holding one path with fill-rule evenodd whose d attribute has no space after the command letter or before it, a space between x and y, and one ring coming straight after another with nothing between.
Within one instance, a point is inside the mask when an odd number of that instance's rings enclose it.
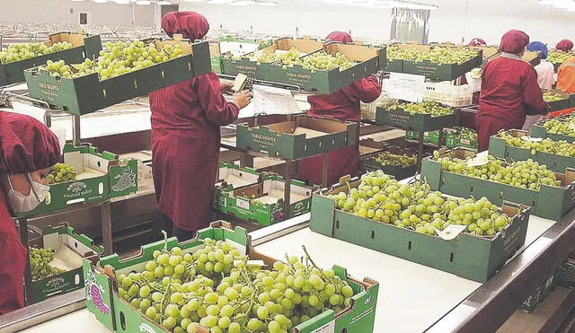
<instances>
[{"instance_id":1,"label":"green cardboard of the grape box directly below the right-hand maroon worker","mask_svg":"<svg viewBox=\"0 0 575 333\"><path fill-rule=\"evenodd\" d=\"M515 129L503 133L516 137L527 136L526 131ZM505 140L498 136L490 137L489 154L508 161L525 161L532 159L535 162L546 165L547 168L555 172L564 172L567 168L575 166L575 157L562 156L555 153L532 152L526 148L507 145Z\"/></svg>"}]
</instances>

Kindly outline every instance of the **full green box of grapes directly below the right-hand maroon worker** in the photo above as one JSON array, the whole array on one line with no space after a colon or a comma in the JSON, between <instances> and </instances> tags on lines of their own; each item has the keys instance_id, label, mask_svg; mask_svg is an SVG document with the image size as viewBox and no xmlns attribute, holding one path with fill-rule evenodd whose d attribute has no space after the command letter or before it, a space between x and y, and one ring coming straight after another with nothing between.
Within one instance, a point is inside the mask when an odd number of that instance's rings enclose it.
<instances>
[{"instance_id":1,"label":"full green box of grapes directly below the right-hand maroon worker","mask_svg":"<svg viewBox=\"0 0 575 333\"><path fill-rule=\"evenodd\" d=\"M555 141L528 136L526 131L501 131L489 140L489 153L508 161L532 159L555 172L564 172L575 166L575 145L567 141Z\"/></svg>"}]
</instances>

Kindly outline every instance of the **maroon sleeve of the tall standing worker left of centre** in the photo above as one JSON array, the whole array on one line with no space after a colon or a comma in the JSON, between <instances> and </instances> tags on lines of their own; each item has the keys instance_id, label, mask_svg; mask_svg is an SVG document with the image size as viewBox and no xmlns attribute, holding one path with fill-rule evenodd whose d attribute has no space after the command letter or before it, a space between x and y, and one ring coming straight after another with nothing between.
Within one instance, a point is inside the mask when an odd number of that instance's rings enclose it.
<instances>
[{"instance_id":1,"label":"maroon sleeve of the tall standing worker left of centre","mask_svg":"<svg viewBox=\"0 0 575 333\"><path fill-rule=\"evenodd\" d=\"M227 102L220 92L217 74L212 72L196 78L199 104L206 111L206 118L217 126L226 126L237 119L240 109Z\"/></svg>"}]
</instances>

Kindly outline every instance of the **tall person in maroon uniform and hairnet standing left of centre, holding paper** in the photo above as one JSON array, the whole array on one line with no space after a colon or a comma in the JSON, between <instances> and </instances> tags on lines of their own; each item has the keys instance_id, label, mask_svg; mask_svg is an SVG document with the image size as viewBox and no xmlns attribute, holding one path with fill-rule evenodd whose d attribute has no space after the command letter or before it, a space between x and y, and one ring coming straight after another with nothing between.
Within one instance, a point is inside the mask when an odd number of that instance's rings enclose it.
<instances>
[{"instance_id":1,"label":"tall person in maroon uniform and hairnet standing left of centre, holding paper","mask_svg":"<svg viewBox=\"0 0 575 333\"><path fill-rule=\"evenodd\" d=\"M170 37L179 33L194 40L206 36L209 24L199 13L177 12L164 15L162 28ZM227 102L222 92L229 88L212 72L150 93L155 197L180 241L209 225L219 127L233 123L251 100L241 92Z\"/></svg>"}]
</instances>

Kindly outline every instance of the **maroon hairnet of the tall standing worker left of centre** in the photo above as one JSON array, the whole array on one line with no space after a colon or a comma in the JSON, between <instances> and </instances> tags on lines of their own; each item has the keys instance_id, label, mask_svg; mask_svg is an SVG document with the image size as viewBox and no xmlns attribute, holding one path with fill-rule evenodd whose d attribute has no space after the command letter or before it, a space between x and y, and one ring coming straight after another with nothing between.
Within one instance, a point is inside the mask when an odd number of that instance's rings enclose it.
<instances>
[{"instance_id":1,"label":"maroon hairnet of the tall standing worker left of centre","mask_svg":"<svg viewBox=\"0 0 575 333\"><path fill-rule=\"evenodd\" d=\"M166 13L162 18L162 29L173 37L174 33L181 33L183 38L195 40L202 39L209 31L208 20L195 12Z\"/></svg>"}]
</instances>

